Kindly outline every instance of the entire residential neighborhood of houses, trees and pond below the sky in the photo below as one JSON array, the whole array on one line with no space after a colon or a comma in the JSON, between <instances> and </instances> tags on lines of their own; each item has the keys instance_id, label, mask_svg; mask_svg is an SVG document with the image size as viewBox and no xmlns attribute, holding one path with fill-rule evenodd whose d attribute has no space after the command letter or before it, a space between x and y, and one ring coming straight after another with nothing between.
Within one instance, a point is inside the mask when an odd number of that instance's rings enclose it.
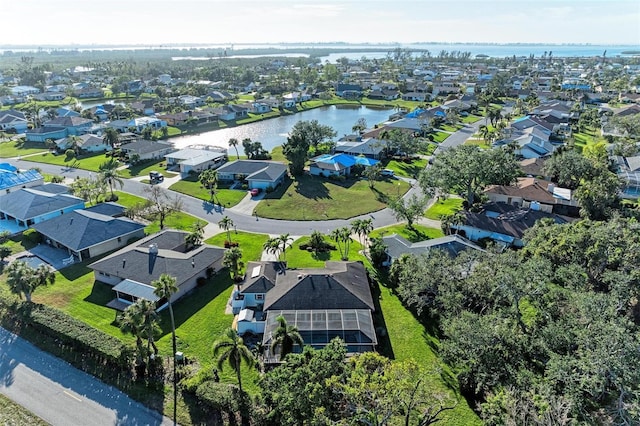
<instances>
[{"instance_id":1,"label":"entire residential neighborhood of houses, trees and pond below the sky","mask_svg":"<svg viewBox=\"0 0 640 426\"><path fill-rule=\"evenodd\" d=\"M0 407L637 424L640 51L427 46L0 49Z\"/></svg>"}]
</instances>

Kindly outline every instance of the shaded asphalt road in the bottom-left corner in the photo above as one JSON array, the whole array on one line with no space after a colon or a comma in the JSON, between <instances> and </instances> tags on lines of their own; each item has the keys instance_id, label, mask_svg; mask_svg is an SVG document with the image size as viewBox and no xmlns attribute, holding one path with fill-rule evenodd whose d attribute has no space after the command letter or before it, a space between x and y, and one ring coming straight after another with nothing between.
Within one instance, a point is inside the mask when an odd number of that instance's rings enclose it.
<instances>
[{"instance_id":1,"label":"shaded asphalt road in the bottom-left corner","mask_svg":"<svg viewBox=\"0 0 640 426\"><path fill-rule=\"evenodd\" d=\"M0 392L54 426L173 424L1 327Z\"/></svg>"}]
</instances>

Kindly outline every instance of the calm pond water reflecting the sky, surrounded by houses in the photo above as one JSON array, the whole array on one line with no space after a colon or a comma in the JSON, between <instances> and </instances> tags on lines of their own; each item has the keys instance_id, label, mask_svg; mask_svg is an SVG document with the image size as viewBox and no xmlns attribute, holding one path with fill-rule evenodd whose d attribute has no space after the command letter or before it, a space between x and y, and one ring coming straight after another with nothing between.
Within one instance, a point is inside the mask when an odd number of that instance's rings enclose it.
<instances>
[{"instance_id":1,"label":"calm pond water reflecting the sky, surrounded by houses","mask_svg":"<svg viewBox=\"0 0 640 426\"><path fill-rule=\"evenodd\" d=\"M264 149L271 151L274 147L287 141L287 134L298 121L318 120L320 124L331 126L337 132L336 139L352 134L351 128L360 118L364 118L367 126L373 127L388 121L393 109L371 108L360 105L331 105L302 111L297 114L270 118L255 123L243 124L212 130L196 135L177 136L171 138L176 148L181 149L189 145L210 145L229 147L229 139L235 138L240 142L238 151L242 154L242 140L249 138L253 142L261 142ZM235 155L231 148L229 154Z\"/></svg>"}]
</instances>

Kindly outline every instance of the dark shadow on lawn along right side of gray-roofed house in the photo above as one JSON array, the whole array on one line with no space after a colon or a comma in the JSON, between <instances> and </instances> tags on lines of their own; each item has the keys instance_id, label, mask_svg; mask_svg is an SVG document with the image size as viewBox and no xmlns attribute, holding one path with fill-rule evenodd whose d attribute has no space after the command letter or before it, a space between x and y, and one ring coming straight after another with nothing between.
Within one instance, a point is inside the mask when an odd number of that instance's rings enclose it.
<instances>
[{"instance_id":1,"label":"dark shadow on lawn along right side of gray-roofed house","mask_svg":"<svg viewBox=\"0 0 640 426\"><path fill-rule=\"evenodd\" d=\"M188 295L181 298L173 305L176 329L196 314L200 309L204 308L213 299L229 290L232 285L233 281L231 280L227 269L223 269L218 273L218 275L208 279L205 285L196 287ZM224 312L220 312L220 314L222 315ZM162 319L162 336L164 336L171 333L169 310L164 309L160 312L160 317Z\"/></svg>"}]
</instances>

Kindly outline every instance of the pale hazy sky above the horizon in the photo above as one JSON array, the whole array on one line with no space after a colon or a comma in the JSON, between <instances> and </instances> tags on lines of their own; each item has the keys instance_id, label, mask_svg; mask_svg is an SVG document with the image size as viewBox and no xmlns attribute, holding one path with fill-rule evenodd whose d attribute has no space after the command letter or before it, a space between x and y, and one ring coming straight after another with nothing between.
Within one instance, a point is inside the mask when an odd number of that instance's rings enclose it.
<instances>
[{"instance_id":1,"label":"pale hazy sky above the horizon","mask_svg":"<svg viewBox=\"0 0 640 426\"><path fill-rule=\"evenodd\" d=\"M7 0L1 44L640 45L639 0Z\"/></svg>"}]
</instances>

